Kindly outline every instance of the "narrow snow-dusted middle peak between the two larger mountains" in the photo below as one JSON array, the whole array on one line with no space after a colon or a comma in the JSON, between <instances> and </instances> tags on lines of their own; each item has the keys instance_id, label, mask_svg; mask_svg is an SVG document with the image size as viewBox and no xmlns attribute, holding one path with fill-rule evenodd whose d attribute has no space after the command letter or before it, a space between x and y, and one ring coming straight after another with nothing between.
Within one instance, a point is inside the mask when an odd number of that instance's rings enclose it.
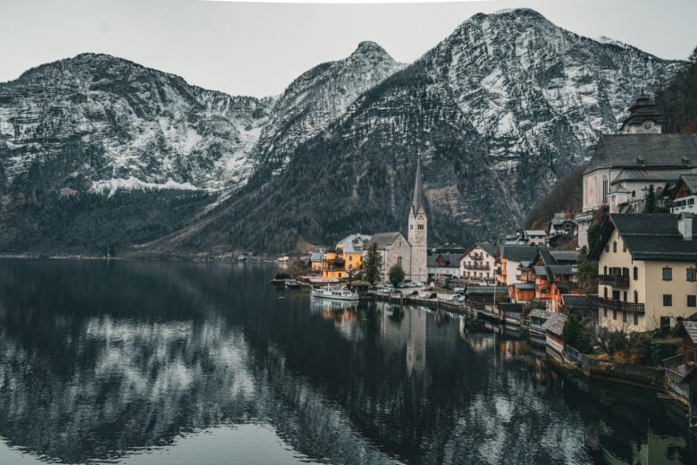
<instances>
[{"instance_id":1,"label":"narrow snow-dusted middle peak between the two larger mountains","mask_svg":"<svg viewBox=\"0 0 697 465\"><path fill-rule=\"evenodd\" d=\"M257 169L278 174L295 148L345 114L365 90L405 66L379 45L365 41L347 58L301 74L273 106L254 151Z\"/></svg>"}]
</instances>

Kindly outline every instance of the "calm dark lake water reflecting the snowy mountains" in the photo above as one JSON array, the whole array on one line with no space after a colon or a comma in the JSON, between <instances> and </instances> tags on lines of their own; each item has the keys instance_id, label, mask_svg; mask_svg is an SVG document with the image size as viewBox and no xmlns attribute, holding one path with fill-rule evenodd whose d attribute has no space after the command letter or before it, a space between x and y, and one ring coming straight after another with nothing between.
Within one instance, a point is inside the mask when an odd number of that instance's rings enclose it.
<instances>
[{"instance_id":1,"label":"calm dark lake water reflecting the snowy mountains","mask_svg":"<svg viewBox=\"0 0 697 465\"><path fill-rule=\"evenodd\" d=\"M697 463L672 403L513 328L274 273L0 260L0 463Z\"/></svg>"}]
</instances>

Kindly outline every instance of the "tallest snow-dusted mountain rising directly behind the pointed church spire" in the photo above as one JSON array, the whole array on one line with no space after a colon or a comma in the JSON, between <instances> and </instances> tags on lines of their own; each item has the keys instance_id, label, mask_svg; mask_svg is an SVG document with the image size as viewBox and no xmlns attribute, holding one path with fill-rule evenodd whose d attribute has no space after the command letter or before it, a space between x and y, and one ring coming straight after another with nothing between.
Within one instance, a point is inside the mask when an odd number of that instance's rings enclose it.
<instances>
[{"instance_id":1,"label":"tallest snow-dusted mountain rising directly behind the pointed church spire","mask_svg":"<svg viewBox=\"0 0 697 465\"><path fill-rule=\"evenodd\" d=\"M511 231L617 131L641 87L655 93L683 66L532 10L474 15L299 145L264 185L272 200L248 192L224 228L235 246L281 250L403 230L420 149L432 243Z\"/></svg>"}]
</instances>

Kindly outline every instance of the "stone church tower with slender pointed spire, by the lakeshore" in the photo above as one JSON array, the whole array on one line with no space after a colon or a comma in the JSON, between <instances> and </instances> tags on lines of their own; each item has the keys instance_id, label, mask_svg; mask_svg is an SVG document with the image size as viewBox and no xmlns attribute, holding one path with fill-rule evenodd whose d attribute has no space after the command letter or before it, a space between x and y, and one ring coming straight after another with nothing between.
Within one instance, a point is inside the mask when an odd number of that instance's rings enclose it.
<instances>
[{"instance_id":1,"label":"stone church tower with slender pointed spire, by the lakeshore","mask_svg":"<svg viewBox=\"0 0 697 465\"><path fill-rule=\"evenodd\" d=\"M413 281L425 283L428 279L426 268L426 247L428 244L428 220L424 208L424 192L421 188L421 155L416 160L416 182L414 197L409 209L409 231L407 240L411 244L411 266L408 272ZM405 270L407 271L407 270Z\"/></svg>"}]
</instances>

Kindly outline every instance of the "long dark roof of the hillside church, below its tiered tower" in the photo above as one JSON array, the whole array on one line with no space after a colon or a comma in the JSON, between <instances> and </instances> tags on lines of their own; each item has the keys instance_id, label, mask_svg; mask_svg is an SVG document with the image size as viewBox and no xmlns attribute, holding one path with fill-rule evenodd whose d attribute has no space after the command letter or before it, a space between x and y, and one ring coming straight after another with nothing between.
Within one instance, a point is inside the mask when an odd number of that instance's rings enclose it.
<instances>
[{"instance_id":1,"label":"long dark roof of the hillside church, below its tiered tower","mask_svg":"<svg viewBox=\"0 0 697 465\"><path fill-rule=\"evenodd\" d=\"M634 169L697 166L697 134L601 134L584 173L603 167Z\"/></svg>"}]
</instances>

